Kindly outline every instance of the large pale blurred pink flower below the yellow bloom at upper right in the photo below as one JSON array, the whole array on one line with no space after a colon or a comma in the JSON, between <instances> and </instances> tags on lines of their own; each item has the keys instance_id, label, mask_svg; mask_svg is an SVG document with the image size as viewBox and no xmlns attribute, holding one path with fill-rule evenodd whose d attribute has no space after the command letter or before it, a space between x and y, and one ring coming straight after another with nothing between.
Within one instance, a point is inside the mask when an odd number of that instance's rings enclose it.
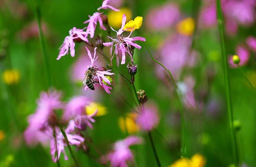
<instances>
[{"instance_id":1,"label":"large pale blurred pink flower below the yellow bloom at upper right","mask_svg":"<svg viewBox=\"0 0 256 167\"><path fill-rule=\"evenodd\" d=\"M187 65L190 61L190 45L191 38L183 35L174 35L172 37L167 37L163 45L160 46L158 52L160 54L159 61L163 65L170 69L174 78L178 79L182 68ZM194 53L193 53L194 54ZM165 71L162 67L156 67L157 75L164 79Z\"/></svg>"}]
</instances>

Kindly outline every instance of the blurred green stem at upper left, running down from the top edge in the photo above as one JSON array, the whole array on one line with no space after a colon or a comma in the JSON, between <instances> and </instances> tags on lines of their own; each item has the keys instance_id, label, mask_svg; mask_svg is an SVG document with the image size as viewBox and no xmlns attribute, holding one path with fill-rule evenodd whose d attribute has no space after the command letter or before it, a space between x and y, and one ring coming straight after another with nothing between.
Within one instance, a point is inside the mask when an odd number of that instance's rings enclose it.
<instances>
[{"instance_id":1,"label":"blurred green stem at upper left, running down from the top edge","mask_svg":"<svg viewBox=\"0 0 256 167\"><path fill-rule=\"evenodd\" d=\"M43 62L44 62L44 75L46 79L46 88L49 88L52 83L50 79L50 68L49 68L49 62L48 62L48 56L46 53L46 45L44 41L44 35L42 31L42 25L41 25L41 10L40 10L40 5L38 4L38 0L35 0L36 6L35 6L35 13L36 13L36 20L38 24L38 30L39 30L39 40L40 40L40 46L42 50L42 56L43 56Z\"/></svg>"}]
</instances>

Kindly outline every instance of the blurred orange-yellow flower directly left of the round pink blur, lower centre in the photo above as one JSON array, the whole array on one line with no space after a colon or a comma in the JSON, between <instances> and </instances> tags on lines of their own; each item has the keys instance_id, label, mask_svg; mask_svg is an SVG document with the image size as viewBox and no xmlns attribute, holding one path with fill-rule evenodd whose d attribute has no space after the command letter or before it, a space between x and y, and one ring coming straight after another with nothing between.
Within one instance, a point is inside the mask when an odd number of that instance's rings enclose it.
<instances>
[{"instance_id":1,"label":"blurred orange-yellow flower directly left of the round pink blur, lower centre","mask_svg":"<svg viewBox=\"0 0 256 167\"><path fill-rule=\"evenodd\" d=\"M128 132L128 134L134 134L138 132L139 127L135 122L135 119L137 117L136 113L129 113L125 118L120 117L118 120L119 127L122 130L122 132Z\"/></svg>"}]
</instances>

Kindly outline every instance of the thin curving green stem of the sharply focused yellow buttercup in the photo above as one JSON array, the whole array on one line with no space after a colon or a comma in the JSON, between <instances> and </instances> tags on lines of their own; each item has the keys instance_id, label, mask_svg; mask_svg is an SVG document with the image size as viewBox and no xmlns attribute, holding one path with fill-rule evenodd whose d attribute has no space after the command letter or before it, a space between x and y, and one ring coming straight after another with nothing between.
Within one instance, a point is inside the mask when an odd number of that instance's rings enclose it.
<instances>
[{"instance_id":1,"label":"thin curving green stem of the sharply focused yellow buttercup","mask_svg":"<svg viewBox=\"0 0 256 167\"><path fill-rule=\"evenodd\" d=\"M138 31L138 29L137 29ZM141 35L140 31L138 31L139 35ZM153 61L155 61L156 63L158 63L160 66L162 66L166 71L167 73L170 75L171 79L172 79L172 84L174 85L174 90L175 90L175 94L178 98L178 103L179 103L179 107L180 107L180 115L181 115L181 124L182 124L182 146L181 146L181 156L183 157L184 154L186 153L186 145L185 145L185 121L184 121L184 111L183 111L183 108L182 108L182 103L180 101L180 97L179 97L179 94L178 94L178 86L176 85L175 81L174 81L174 78L172 77L172 73L170 72L170 70L168 70L162 63L160 63L159 61L157 61L153 55L151 54L150 50L148 49L148 46L146 45L146 42L144 42L145 44L145 47L146 49L148 50L148 53L150 55L150 57L153 59Z\"/></svg>"}]
</instances>

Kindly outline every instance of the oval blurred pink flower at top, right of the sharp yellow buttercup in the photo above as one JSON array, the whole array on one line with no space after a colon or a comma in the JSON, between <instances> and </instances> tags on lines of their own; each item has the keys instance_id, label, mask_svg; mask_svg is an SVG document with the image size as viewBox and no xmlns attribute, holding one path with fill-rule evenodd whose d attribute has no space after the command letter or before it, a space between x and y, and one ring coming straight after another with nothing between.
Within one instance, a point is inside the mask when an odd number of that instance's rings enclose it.
<instances>
[{"instance_id":1,"label":"oval blurred pink flower at top, right of the sharp yellow buttercup","mask_svg":"<svg viewBox=\"0 0 256 167\"><path fill-rule=\"evenodd\" d=\"M153 31L161 31L174 26L180 18L180 10L177 4L168 3L153 8L146 16L146 26Z\"/></svg>"}]
</instances>

